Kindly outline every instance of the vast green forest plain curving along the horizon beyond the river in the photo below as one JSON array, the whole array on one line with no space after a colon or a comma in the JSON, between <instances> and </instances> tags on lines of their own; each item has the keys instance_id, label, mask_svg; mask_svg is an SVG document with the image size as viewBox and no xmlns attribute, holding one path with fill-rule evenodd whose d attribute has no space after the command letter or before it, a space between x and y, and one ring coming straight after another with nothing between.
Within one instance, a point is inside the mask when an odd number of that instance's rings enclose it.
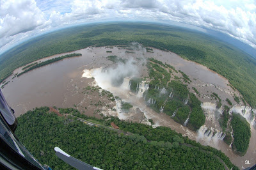
<instances>
[{"instance_id":1,"label":"vast green forest plain curving along the horizon beyond the river","mask_svg":"<svg viewBox=\"0 0 256 170\"><path fill-rule=\"evenodd\" d=\"M0 82L15 68L36 59L91 45L121 45L139 42L148 47L170 50L182 58L201 63L220 73L256 106L256 60L244 52L203 33L138 22L111 22L69 27L38 36L5 52L0 58Z\"/></svg>"}]
</instances>

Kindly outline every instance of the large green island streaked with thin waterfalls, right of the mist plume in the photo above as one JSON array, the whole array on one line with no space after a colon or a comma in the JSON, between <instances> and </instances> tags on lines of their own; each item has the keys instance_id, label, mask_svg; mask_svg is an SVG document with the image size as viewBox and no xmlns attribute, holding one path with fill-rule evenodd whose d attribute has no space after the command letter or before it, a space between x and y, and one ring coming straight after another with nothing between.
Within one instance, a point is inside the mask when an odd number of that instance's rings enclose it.
<instances>
[{"instance_id":1,"label":"large green island streaked with thin waterfalls, right of the mist plume","mask_svg":"<svg viewBox=\"0 0 256 170\"><path fill-rule=\"evenodd\" d=\"M204 125L205 115L201 102L193 93L189 93L186 85L191 82L188 75L179 70L182 77L175 80L171 73L177 70L153 58L148 59L147 68L150 82L147 82L148 90L143 96L148 106L156 112L168 114L191 130L198 130ZM130 88L133 93L138 93L138 84L141 82L140 78L131 80Z\"/></svg>"}]
</instances>

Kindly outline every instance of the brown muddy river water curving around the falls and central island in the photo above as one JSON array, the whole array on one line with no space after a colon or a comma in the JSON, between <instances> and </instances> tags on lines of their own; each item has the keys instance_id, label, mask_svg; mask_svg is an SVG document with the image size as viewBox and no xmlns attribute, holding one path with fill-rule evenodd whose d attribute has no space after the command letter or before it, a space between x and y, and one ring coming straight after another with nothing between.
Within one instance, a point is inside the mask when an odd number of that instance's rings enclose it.
<instances>
[{"instance_id":1,"label":"brown muddy river water curving around the falls and central island","mask_svg":"<svg viewBox=\"0 0 256 170\"><path fill-rule=\"evenodd\" d=\"M107 53L107 50L111 50L112 53ZM93 79L82 77L82 75L85 69L90 70L92 68L112 65L112 62L106 59L106 57L110 55L116 55L120 58L128 58L129 56L133 58L156 58L163 61L163 63L166 62L173 65L176 70L181 70L189 76L192 82L188 84L188 87L196 87L196 89L203 94L201 97L198 97L202 102L216 102L210 97L211 92L217 93L223 100L229 98L232 103L235 103L232 97L233 94L236 93L236 95L239 96L239 93L227 86L227 79L212 72L205 66L182 59L172 52L154 49L154 53L143 50L142 52L135 51L135 54L127 54L124 49L118 49L117 47L113 49L106 47L90 47L76 50L75 52L81 53L82 56L63 59L56 63L36 68L31 72L24 73L20 77L12 79L12 75L7 79L7 81L10 82L3 88L3 93L8 104L15 110L16 116L20 116L20 114L24 114L24 112L35 107L55 105L56 107L76 107L79 111L84 112L84 114L99 117L99 113L103 110L102 108L105 107L105 105L111 108L116 104L115 102L110 102L108 98L100 96L97 92L86 91L84 88L88 85L92 86ZM58 54L49 58L40 59L39 61L45 61L70 53L73 52ZM145 68L145 66L141 67L140 75L147 75ZM14 73L19 72L21 72L21 68L15 70ZM179 73L173 74L178 77L180 76ZM192 89L190 89L190 91L194 93ZM99 103L99 101L101 103ZM225 102L223 102L223 104L225 104ZM143 107L140 109L145 113L140 112L132 115L131 118L133 120L143 122L145 118L152 118L157 126L170 127L183 135L188 135L190 139L197 139L196 132L192 132L188 130L188 128L176 123L170 116L163 113L156 114L156 112L151 111L143 105L137 105L138 107ZM245 164L245 160L250 160L251 166L252 164L256 164L255 137L256 132L253 129L248 151L243 157L235 155L223 141L219 140L218 144L214 147L223 151L236 166L242 169L243 167L250 166ZM199 140L199 142L208 144L202 140Z\"/></svg>"}]
</instances>

